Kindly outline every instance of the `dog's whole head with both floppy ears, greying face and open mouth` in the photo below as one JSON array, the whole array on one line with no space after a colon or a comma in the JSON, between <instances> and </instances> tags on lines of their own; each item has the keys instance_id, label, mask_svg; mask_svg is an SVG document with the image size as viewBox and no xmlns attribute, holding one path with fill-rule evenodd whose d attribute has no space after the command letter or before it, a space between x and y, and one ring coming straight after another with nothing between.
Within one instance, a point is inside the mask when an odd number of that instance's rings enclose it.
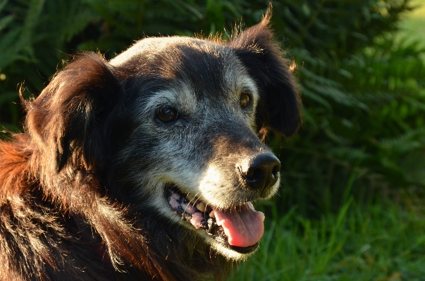
<instances>
[{"instance_id":1,"label":"dog's whole head with both floppy ears, greying face and open mouth","mask_svg":"<svg viewBox=\"0 0 425 281\"><path fill-rule=\"evenodd\" d=\"M281 164L259 135L290 137L301 123L268 23L226 42L147 38L109 62L80 56L29 106L45 168L99 175L119 201L245 258L263 232L250 202L279 186Z\"/></svg>"}]
</instances>

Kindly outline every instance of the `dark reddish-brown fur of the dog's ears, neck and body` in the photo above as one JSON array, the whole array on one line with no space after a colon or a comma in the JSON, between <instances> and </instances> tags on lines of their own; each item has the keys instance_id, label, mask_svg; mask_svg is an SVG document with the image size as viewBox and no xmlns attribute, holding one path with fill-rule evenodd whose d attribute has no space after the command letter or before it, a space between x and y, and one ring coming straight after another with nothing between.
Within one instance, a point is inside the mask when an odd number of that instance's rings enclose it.
<instances>
[{"instance_id":1,"label":"dark reddish-brown fur of the dog's ears, neck and body","mask_svg":"<svg viewBox=\"0 0 425 281\"><path fill-rule=\"evenodd\" d=\"M235 49L264 89L259 129L290 136L300 126L300 98L281 51L271 43L268 22L269 16L221 44ZM0 142L0 280L228 276L231 262L206 244L194 246L192 233L171 229L109 194L107 175L116 175L110 168L113 147L136 126L119 120L125 100L118 93L133 71L81 54L37 99L23 101L25 133ZM286 94L277 94L282 89ZM181 241L173 243L170 233Z\"/></svg>"}]
</instances>

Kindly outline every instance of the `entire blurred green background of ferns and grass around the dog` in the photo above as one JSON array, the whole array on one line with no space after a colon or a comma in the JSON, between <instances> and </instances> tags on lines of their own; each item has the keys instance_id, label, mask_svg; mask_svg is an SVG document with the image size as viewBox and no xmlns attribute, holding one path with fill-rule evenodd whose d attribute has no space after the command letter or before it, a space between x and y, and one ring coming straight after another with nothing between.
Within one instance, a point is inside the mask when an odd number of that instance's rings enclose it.
<instances>
[{"instance_id":1,"label":"entire blurred green background of ferns and grass around the dog","mask_svg":"<svg viewBox=\"0 0 425 281\"><path fill-rule=\"evenodd\" d=\"M146 36L228 37L267 0L0 0L0 138L67 55ZM425 280L425 0L274 0L304 125L269 136L282 187L232 280Z\"/></svg>"}]
</instances>

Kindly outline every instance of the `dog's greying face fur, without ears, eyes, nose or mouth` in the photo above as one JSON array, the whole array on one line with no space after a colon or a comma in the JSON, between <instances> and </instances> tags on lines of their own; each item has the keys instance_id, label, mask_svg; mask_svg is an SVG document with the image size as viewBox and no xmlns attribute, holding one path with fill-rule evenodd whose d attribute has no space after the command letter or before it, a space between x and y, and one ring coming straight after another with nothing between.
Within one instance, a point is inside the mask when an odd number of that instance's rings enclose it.
<instances>
[{"instance_id":1,"label":"dog's greying face fur, without ears, eyes, nose or mouth","mask_svg":"<svg viewBox=\"0 0 425 281\"><path fill-rule=\"evenodd\" d=\"M259 86L233 49L199 39L149 38L111 63L132 65L140 69L135 77L148 75L158 85L151 91L140 89L133 105L139 124L133 134L135 146L121 153L128 156L123 161L133 161L130 175L133 184L139 186L140 198L150 198L144 204L192 228L171 211L164 197L167 186L178 187L180 192L221 209L276 193L279 180L266 190L252 190L238 170L254 156L270 151L257 136ZM240 106L241 94L250 96L246 108ZM161 108L173 108L180 118L162 123L156 116ZM138 167L140 158L144 158L143 168ZM248 256L202 236L228 258Z\"/></svg>"}]
</instances>

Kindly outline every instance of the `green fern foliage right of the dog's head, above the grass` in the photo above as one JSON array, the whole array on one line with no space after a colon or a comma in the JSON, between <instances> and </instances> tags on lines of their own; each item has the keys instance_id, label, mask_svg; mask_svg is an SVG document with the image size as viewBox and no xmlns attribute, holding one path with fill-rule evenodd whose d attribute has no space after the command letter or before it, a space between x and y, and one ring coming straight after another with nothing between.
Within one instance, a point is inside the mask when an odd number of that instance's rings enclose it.
<instances>
[{"instance_id":1,"label":"green fern foliage right of the dog's head, above the grass","mask_svg":"<svg viewBox=\"0 0 425 281\"><path fill-rule=\"evenodd\" d=\"M273 6L304 100L300 133L273 145L288 163L278 204L309 216L335 211L349 178L360 201L425 187L425 49L393 35L409 1Z\"/></svg>"}]
</instances>

